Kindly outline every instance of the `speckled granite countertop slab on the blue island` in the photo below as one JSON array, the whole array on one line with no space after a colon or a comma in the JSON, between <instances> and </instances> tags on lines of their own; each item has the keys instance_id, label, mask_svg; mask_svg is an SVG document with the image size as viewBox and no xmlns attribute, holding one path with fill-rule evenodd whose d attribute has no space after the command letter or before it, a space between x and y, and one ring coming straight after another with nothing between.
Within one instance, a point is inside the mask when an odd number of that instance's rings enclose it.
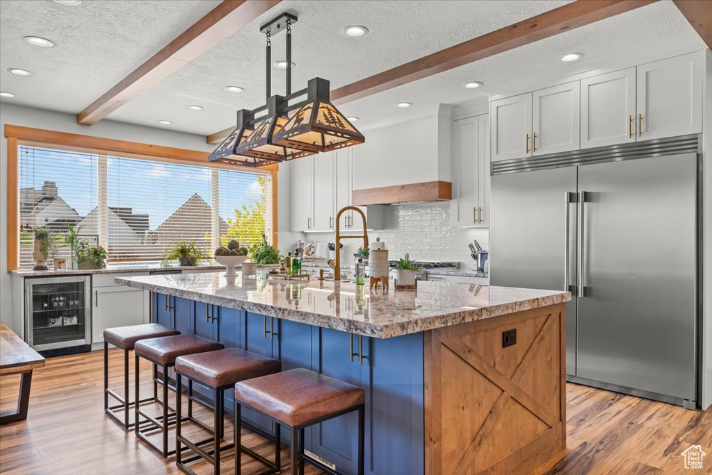
<instances>
[{"instance_id":1,"label":"speckled granite countertop slab on the blue island","mask_svg":"<svg viewBox=\"0 0 712 475\"><path fill-rule=\"evenodd\" d=\"M375 338L418 333L468 321L561 304L569 292L447 282L384 292L353 282L224 277L222 272L117 277L117 284L207 304L275 316Z\"/></svg>"}]
</instances>

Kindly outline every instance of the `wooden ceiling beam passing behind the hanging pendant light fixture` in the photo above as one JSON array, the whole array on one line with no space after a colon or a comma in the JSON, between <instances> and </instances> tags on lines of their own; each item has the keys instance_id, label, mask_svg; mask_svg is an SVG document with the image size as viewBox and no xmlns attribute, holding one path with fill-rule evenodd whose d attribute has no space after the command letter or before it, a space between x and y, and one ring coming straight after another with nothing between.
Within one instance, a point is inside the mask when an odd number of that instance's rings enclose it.
<instances>
[{"instance_id":1,"label":"wooden ceiling beam passing behind the hanging pendant light fixture","mask_svg":"<svg viewBox=\"0 0 712 475\"><path fill-rule=\"evenodd\" d=\"M483 36L459 43L450 48L426 55L417 60L352 82L331 91L331 101L346 104L362 97L383 92L409 82L473 63L488 56L504 53L535 41L590 25L627 11L654 3L656 0L579 0L546 11L543 14L505 26ZM676 0L679 1L679 0ZM697 3L694 0L683 0ZM700 2L706 3L706 2ZM708 2L712 3L712 2ZM234 127L206 137L209 144L217 144L227 137Z\"/></svg>"}]
</instances>

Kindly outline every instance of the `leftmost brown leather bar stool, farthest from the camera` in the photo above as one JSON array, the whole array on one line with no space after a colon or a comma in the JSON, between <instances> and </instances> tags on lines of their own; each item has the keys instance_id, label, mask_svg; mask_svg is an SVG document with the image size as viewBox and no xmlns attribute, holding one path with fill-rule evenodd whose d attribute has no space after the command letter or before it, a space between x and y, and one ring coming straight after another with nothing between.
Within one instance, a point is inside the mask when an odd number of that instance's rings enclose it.
<instances>
[{"instance_id":1,"label":"leftmost brown leather bar stool, farthest from the camera","mask_svg":"<svg viewBox=\"0 0 712 475\"><path fill-rule=\"evenodd\" d=\"M159 336L179 335L177 330L169 329L159 324L144 324L117 326L112 329L104 330L104 412L110 415L124 425L124 430L133 427L134 423L129 422L129 407L134 405L134 402L129 402L129 351L134 349L137 341L145 340L146 338L157 338ZM109 344L120 348L124 351L124 395L121 397L114 390L109 388ZM154 374L156 367L154 365ZM150 402L157 399L156 380L153 383L153 397L149 397L141 402ZM115 406L109 406L109 396L119 402ZM123 420L117 414L117 410L123 410Z\"/></svg>"}]
</instances>

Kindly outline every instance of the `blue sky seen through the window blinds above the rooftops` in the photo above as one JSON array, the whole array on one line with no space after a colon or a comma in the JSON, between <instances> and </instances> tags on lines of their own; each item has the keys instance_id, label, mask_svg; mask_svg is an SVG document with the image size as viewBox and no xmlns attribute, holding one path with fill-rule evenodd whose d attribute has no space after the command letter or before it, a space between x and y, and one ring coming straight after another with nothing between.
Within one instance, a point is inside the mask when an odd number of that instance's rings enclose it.
<instances>
[{"instance_id":1,"label":"blue sky seen through the window blinds above the rooftops","mask_svg":"<svg viewBox=\"0 0 712 475\"><path fill-rule=\"evenodd\" d=\"M97 158L90 154L21 147L22 188L42 188L55 181L58 194L81 216L97 202ZM198 193L211 202L211 169L155 161L109 157L107 164L109 206L147 213L155 229L169 215ZM257 176L236 171L219 172L219 213L232 218L234 209L250 205L260 196Z\"/></svg>"}]
</instances>

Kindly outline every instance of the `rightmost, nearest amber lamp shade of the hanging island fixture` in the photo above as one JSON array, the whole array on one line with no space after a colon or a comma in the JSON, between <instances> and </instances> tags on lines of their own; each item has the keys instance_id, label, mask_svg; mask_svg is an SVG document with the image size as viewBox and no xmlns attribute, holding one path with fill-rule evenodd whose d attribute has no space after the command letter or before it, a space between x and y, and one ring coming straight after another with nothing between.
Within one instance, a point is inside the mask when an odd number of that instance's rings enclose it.
<instances>
[{"instance_id":1,"label":"rightmost, nearest amber lamp shade of the hanging island fixture","mask_svg":"<svg viewBox=\"0 0 712 475\"><path fill-rule=\"evenodd\" d=\"M363 134L331 102L320 99L301 107L272 138L273 144L313 153L364 142Z\"/></svg>"}]
</instances>

